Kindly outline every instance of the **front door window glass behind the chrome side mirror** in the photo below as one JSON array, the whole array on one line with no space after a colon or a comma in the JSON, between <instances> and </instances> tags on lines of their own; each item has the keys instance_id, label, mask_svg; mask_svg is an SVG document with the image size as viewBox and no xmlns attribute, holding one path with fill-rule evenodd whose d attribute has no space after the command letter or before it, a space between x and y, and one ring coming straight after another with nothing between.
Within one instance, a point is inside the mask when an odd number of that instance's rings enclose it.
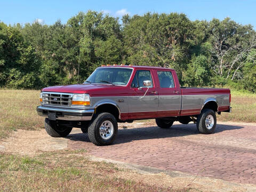
<instances>
[{"instance_id":1,"label":"front door window glass behind the chrome side mirror","mask_svg":"<svg viewBox=\"0 0 256 192\"><path fill-rule=\"evenodd\" d=\"M151 77L151 73L149 70L137 70L136 74L132 80L132 87L145 87L143 85L143 81L151 81L151 86L153 87L153 81Z\"/></svg>"}]
</instances>

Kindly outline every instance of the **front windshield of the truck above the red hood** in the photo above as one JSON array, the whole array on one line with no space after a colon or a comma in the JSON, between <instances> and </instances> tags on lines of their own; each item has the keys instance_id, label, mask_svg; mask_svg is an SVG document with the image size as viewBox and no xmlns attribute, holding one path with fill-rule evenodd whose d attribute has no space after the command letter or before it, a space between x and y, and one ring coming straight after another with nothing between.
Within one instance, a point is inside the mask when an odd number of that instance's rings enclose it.
<instances>
[{"instance_id":1,"label":"front windshield of the truck above the red hood","mask_svg":"<svg viewBox=\"0 0 256 192\"><path fill-rule=\"evenodd\" d=\"M103 67L96 69L84 83L126 85L132 75L131 68Z\"/></svg>"}]
</instances>

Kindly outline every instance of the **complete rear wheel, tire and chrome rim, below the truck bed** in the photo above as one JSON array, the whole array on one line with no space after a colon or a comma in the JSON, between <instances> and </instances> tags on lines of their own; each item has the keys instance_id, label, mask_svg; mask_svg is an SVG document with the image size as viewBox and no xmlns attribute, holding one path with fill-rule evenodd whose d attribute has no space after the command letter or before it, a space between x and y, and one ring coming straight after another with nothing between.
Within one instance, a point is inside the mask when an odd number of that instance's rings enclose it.
<instances>
[{"instance_id":1,"label":"complete rear wheel, tire and chrome rim, below the truck bed","mask_svg":"<svg viewBox=\"0 0 256 192\"><path fill-rule=\"evenodd\" d=\"M200 133L211 134L217 123L216 114L212 109L203 109L197 117L196 126Z\"/></svg>"}]
</instances>

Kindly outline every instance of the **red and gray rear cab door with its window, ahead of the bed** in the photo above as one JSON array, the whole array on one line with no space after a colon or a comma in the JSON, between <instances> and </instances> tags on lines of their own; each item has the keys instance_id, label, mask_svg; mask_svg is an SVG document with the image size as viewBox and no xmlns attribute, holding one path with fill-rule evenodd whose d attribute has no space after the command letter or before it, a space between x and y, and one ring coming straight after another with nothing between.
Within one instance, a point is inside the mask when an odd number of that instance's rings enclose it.
<instances>
[{"instance_id":1,"label":"red and gray rear cab door with its window, ahead of the bed","mask_svg":"<svg viewBox=\"0 0 256 192\"><path fill-rule=\"evenodd\" d=\"M157 70L159 107L158 117L179 116L181 109L180 86L175 85L172 71Z\"/></svg>"}]
</instances>

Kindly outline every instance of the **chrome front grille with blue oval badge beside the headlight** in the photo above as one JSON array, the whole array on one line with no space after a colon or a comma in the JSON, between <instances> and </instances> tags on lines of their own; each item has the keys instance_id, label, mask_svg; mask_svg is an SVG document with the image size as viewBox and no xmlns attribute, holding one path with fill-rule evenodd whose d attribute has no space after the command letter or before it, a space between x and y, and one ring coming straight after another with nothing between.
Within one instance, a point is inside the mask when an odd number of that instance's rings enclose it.
<instances>
[{"instance_id":1,"label":"chrome front grille with blue oval badge beside the headlight","mask_svg":"<svg viewBox=\"0 0 256 192\"><path fill-rule=\"evenodd\" d=\"M57 106L71 106L71 95L69 93L47 93L43 92L43 104Z\"/></svg>"}]
</instances>

